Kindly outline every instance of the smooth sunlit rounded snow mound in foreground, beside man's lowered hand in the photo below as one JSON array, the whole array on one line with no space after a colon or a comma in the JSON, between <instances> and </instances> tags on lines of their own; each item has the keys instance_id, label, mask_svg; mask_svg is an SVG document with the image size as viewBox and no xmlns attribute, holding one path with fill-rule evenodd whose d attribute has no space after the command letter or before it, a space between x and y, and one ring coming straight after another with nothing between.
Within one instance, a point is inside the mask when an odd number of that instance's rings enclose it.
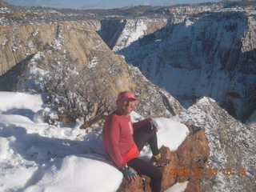
<instances>
[{"instance_id":1,"label":"smooth sunlit rounded snow mound in foreground, beside man's lowered hand","mask_svg":"<svg viewBox=\"0 0 256 192\"><path fill-rule=\"evenodd\" d=\"M122 182L120 171L94 155L58 158L53 165L44 168L43 171L44 175L37 185L31 185L26 191L111 192L117 190L118 183Z\"/></svg>"}]
</instances>

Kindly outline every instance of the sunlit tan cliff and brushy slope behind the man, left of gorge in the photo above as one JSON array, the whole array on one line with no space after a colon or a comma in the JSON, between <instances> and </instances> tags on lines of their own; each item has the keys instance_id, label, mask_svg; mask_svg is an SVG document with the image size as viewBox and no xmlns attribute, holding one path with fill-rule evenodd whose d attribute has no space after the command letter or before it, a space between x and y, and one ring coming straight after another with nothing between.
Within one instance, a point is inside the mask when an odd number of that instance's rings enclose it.
<instances>
[{"instance_id":1,"label":"sunlit tan cliff and brushy slope behind the man, left of gorge","mask_svg":"<svg viewBox=\"0 0 256 192\"><path fill-rule=\"evenodd\" d=\"M183 108L128 66L98 35L98 21L2 26L1 90L50 93L59 120L90 126L114 109L119 91L133 90L142 115L170 117Z\"/></svg>"}]
</instances>

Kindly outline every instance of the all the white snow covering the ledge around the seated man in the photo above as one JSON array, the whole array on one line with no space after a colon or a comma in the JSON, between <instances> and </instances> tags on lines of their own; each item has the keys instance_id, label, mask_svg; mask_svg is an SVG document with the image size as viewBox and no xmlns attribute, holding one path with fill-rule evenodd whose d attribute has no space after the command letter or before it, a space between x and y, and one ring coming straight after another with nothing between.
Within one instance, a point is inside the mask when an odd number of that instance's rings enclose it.
<instances>
[{"instance_id":1,"label":"all the white snow covering the ledge around the seated man","mask_svg":"<svg viewBox=\"0 0 256 192\"><path fill-rule=\"evenodd\" d=\"M80 130L43 122L40 94L0 92L0 191L115 191L122 173L106 159L102 127ZM49 111L48 111L49 112ZM41 118L41 121L38 121ZM142 118L133 113L132 119ZM175 150L188 130L166 118L158 122L158 145ZM145 150L144 155L150 155ZM167 191L184 191L186 183Z\"/></svg>"}]
</instances>

